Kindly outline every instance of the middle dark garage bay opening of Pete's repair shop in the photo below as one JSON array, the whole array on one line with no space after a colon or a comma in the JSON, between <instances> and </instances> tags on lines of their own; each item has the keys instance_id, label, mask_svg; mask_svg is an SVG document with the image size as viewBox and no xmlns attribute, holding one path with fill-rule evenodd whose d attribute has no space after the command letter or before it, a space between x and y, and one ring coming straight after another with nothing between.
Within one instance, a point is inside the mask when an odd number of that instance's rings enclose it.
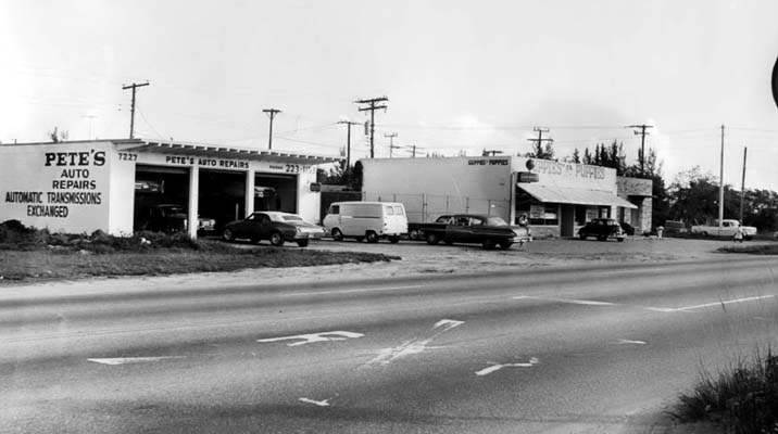
<instances>
[{"instance_id":1,"label":"middle dark garage bay opening of Pete's repair shop","mask_svg":"<svg viewBox=\"0 0 778 434\"><path fill-rule=\"evenodd\" d=\"M230 221L246 217L246 174L238 171L200 170L200 217L216 220L221 233Z\"/></svg>"}]
</instances>

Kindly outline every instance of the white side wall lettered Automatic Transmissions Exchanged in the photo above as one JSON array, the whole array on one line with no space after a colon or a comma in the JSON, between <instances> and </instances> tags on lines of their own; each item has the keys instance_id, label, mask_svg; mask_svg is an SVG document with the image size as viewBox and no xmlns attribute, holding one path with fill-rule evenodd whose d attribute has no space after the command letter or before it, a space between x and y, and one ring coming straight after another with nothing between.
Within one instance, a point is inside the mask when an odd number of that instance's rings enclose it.
<instances>
[{"instance_id":1,"label":"white side wall lettered Automatic Transmissions Exchanged","mask_svg":"<svg viewBox=\"0 0 778 434\"><path fill-rule=\"evenodd\" d=\"M99 145L9 146L17 152L2 154L0 219L76 232L105 228L109 167Z\"/></svg>"}]
</instances>

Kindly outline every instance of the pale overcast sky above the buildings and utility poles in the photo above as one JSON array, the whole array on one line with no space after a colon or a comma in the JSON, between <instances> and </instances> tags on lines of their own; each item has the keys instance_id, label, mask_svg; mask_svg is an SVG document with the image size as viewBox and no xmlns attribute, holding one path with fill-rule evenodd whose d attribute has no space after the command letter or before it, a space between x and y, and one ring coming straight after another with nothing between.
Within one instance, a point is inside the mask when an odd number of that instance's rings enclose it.
<instances>
[{"instance_id":1,"label":"pale overcast sky above the buildings and utility poles","mask_svg":"<svg viewBox=\"0 0 778 434\"><path fill-rule=\"evenodd\" d=\"M778 2L0 0L0 141L136 136L337 155L357 99L386 95L376 156L394 144L453 155L556 156L654 128L670 182L699 165L778 191ZM91 132L90 132L91 130ZM364 127L354 157L367 156ZM393 150L410 156L409 148Z\"/></svg>"}]
</instances>

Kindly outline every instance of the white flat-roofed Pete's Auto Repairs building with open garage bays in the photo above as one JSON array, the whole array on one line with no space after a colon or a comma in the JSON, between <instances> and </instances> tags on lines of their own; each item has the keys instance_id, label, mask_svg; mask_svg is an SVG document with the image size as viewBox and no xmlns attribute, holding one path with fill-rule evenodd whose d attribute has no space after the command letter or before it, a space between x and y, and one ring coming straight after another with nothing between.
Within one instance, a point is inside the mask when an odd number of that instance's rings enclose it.
<instances>
[{"instance_id":1,"label":"white flat-roofed Pete's Auto Repairs building with open garage bays","mask_svg":"<svg viewBox=\"0 0 778 434\"><path fill-rule=\"evenodd\" d=\"M174 204L216 220L284 210L317 221L316 165L338 158L175 141L0 145L0 221L53 232L121 235L148 207ZM197 225L188 225L197 237Z\"/></svg>"}]
</instances>

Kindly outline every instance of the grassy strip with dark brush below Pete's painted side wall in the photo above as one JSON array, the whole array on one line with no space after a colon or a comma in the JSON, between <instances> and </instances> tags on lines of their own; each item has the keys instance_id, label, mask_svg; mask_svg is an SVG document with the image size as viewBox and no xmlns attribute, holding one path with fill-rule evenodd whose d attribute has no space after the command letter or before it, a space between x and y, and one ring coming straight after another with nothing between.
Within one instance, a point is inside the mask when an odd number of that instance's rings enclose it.
<instances>
[{"instance_id":1,"label":"grassy strip with dark brush below Pete's painted side wall","mask_svg":"<svg viewBox=\"0 0 778 434\"><path fill-rule=\"evenodd\" d=\"M49 233L16 220L0 224L0 280L79 279L313 267L400 259L360 252L237 246L186 234L140 232L131 237Z\"/></svg>"}]
</instances>

